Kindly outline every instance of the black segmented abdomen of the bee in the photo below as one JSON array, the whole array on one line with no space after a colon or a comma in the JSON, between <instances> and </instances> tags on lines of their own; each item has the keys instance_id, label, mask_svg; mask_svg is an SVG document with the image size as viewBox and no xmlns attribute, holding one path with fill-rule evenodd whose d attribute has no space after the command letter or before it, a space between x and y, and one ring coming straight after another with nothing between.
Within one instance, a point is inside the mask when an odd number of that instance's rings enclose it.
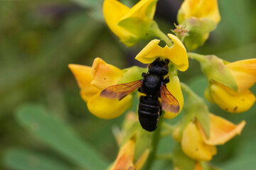
<instances>
[{"instance_id":1,"label":"black segmented abdomen of the bee","mask_svg":"<svg viewBox=\"0 0 256 170\"><path fill-rule=\"evenodd\" d=\"M156 130L159 119L159 101L157 97L141 96L139 98L139 123L144 130Z\"/></svg>"}]
</instances>

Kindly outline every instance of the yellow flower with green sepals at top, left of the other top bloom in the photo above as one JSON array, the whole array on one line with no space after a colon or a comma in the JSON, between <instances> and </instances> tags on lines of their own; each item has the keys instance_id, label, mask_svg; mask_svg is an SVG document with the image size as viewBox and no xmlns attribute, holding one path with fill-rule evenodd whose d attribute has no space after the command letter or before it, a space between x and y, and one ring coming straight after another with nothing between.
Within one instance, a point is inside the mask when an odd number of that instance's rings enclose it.
<instances>
[{"instance_id":1,"label":"yellow flower with green sepals at top, left of the other top bloom","mask_svg":"<svg viewBox=\"0 0 256 170\"><path fill-rule=\"evenodd\" d=\"M148 38L158 28L153 21L156 0L141 0L132 8L117 0L105 0L103 14L107 26L127 46Z\"/></svg>"}]
</instances>

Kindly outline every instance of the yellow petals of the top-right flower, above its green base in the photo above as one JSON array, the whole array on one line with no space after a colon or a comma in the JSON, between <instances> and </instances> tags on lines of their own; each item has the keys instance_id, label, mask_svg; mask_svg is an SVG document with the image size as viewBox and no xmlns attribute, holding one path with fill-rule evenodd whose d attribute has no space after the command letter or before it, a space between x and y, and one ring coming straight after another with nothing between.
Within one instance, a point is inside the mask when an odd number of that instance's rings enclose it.
<instances>
[{"instance_id":1,"label":"yellow petals of the top-right flower, above its green base","mask_svg":"<svg viewBox=\"0 0 256 170\"><path fill-rule=\"evenodd\" d=\"M218 10L217 0L185 0L178 11L178 23L182 23L184 19L210 18L215 23L220 22L220 12Z\"/></svg>"}]
</instances>

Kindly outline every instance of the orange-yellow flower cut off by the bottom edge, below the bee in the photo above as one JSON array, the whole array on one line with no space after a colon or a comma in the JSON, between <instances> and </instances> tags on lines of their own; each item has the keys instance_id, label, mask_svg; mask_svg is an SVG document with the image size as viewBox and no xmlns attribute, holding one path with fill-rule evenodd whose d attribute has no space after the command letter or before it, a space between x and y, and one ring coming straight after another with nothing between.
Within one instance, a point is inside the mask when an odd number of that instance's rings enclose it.
<instances>
[{"instance_id":1,"label":"orange-yellow flower cut off by the bottom edge, below the bee","mask_svg":"<svg viewBox=\"0 0 256 170\"><path fill-rule=\"evenodd\" d=\"M134 153L135 153L136 141L134 138L128 140L119 150L117 159L115 160L113 166L110 170L117 169L142 169L142 166L146 162L147 157L149 156L149 149L145 149L143 154L139 157L137 162L134 164Z\"/></svg>"}]
</instances>

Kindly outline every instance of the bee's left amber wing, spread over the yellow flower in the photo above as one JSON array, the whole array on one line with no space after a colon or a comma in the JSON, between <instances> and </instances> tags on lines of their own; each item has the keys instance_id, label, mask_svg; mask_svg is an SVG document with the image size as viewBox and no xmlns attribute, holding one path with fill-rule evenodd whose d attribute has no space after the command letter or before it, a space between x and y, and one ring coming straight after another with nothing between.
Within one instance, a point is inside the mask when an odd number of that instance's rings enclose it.
<instances>
[{"instance_id":1,"label":"bee's left amber wing, spread over the yellow flower","mask_svg":"<svg viewBox=\"0 0 256 170\"><path fill-rule=\"evenodd\" d=\"M100 93L100 96L105 98L113 98L122 100L125 96L132 93L139 86L142 86L142 80L132 81L126 84L117 84L114 86L109 86L107 89Z\"/></svg>"}]
</instances>

